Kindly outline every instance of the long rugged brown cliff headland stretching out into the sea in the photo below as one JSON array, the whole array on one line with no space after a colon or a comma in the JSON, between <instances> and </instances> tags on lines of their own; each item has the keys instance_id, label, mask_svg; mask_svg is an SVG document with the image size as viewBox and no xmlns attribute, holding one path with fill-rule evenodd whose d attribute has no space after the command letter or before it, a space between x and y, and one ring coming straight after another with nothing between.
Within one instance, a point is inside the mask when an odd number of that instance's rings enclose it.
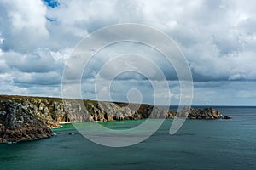
<instances>
[{"instance_id":1,"label":"long rugged brown cliff headland stretching out into the sea","mask_svg":"<svg viewBox=\"0 0 256 170\"><path fill-rule=\"evenodd\" d=\"M60 127L60 122L105 122L148 117L223 118L214 108L185 108L177 113L153 105L0 95L0 143L53 136L49 127Z\"/></svg>"}]
</instances>

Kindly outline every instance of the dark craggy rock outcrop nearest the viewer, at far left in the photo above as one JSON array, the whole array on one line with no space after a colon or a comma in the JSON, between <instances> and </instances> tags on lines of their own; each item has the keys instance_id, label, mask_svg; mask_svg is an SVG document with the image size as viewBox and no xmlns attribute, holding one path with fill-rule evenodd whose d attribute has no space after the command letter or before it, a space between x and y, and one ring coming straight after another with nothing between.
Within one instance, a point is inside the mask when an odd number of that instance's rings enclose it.
<instances>
[{"instance_id":1,"label":"dark craggy rock outcrop nearest the viewer, at far left","mask_svg":"<svg viewBox=\"0 0 256 170\"><path fill-rule=\"evenodd\" d=\"M12 100L0 101L0 143L53 136L50 128Z\"/></svg>"}]
</instances>

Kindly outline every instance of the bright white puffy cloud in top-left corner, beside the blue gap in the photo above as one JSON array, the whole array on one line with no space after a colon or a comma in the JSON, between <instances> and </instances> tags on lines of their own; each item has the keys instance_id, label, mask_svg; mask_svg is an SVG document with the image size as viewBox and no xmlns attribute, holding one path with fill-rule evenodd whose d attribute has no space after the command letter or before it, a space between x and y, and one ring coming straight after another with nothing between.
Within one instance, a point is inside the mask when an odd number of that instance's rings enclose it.
<instances>
[{"instance_id":1,"label":"bright white puffy cloud in top-left corner, beside the blue gap","mask_svg":"<svg viewBox=\"0 0 256 170\"><path fill-rule=\"evenodd\" d=\"M0 1L0 32L3 50L27 51L44 46L49 32L46 28L46 7L40 0Z\"/></svg>"}]
</instances>

